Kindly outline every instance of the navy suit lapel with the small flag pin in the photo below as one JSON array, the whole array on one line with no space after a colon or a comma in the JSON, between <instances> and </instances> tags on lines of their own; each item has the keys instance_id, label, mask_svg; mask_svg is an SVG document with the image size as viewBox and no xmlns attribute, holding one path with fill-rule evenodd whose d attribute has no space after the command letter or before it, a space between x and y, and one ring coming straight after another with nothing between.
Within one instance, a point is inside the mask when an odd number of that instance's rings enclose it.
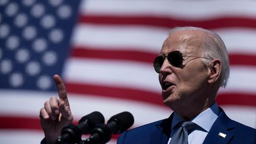
<instances>
[{"instance_id":1,"label":"navy suit lapel with the small flag pin","mask_svg":"<svg viewBox=\"0 0 256 144\"><path fill-rule=\"evenodd\" d=\"M232 120L220 108L220 114L215 123L213 123L206 139L203 143L228 143L233 137L232 129L234 128Z\"/></svg>"}]
</instances>

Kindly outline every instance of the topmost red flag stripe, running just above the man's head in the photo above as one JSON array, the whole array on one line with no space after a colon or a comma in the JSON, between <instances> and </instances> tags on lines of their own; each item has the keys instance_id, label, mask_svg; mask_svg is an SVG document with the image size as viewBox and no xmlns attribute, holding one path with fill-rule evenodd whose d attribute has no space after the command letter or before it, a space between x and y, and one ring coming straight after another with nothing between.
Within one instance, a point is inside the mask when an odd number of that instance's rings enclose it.
<instances>
[{"instance_id":1,"label":"topmost red flag stripe, running just above the man's head","mask_svg":"<svg viewBox=\"0 0 256 144\"><path fill-rule=\"evenodd\" d=\"M146 15L81 15L80 23L110 24L110 25L151 25L157 27L194 26L207 29L220 27L251 27L256 28L256 20L245 17L219 17L211 20L178 20L175 18L152 17Z\"/></svg>"}]
</instances>

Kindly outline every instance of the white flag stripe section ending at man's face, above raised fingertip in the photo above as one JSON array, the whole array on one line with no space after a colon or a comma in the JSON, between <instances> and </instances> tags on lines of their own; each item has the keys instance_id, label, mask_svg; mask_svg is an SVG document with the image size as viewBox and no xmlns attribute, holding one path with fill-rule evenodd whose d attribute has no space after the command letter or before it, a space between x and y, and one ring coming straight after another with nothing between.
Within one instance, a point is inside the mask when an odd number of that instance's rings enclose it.
<instances>
[{"instance_id":1,"label":"white flag stripe section ending at man's face, above raised fingertip","mask_svg":"<svg viewBox=\"0 0 256 144\"><path fill-rule=\"evenodd\" d=\"M86 82L161 92L158 73L149 63L71 58L66 62L63 76L66 82L78 84Z\"/></svg>"}]
</instances>

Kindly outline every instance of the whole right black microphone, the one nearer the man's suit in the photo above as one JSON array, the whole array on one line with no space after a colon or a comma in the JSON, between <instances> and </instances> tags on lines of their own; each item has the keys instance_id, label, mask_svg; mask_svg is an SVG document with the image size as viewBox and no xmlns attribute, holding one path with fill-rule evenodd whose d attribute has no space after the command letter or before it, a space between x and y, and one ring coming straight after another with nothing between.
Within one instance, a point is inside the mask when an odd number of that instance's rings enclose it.
<instances>
[{"instance_id":1,"label":"whole right black microphone, the one nearer the man's suit","mask_svg":"<svg viewBox=\"0 0 256 144\"><path fill-rule=\"evenodd\" d=\"M92 129L91 136L84 140L84 144L104 144L111 139L112 134L119 134L131 127L134 118L131 113L124 111L108 120L107 124L97 124Z\"/></svg>"}]
</instances>

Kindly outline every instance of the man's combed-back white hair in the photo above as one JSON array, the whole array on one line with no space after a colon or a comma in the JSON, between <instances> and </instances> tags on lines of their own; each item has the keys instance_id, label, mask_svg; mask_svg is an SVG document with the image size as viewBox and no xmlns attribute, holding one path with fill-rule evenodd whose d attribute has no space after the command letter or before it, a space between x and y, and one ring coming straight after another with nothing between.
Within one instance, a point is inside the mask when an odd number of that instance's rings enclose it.
<instances>
[{"instance_id":1,"label":"man's combed-back white hair","mask_svg":"<svg viewBox=\"0 0 256 144\"><path fill-rule=\"evenodd\" d=\"M204 50L203 56L207 57L207 59L203 59L203 62L207 64L210 63L212 59L220 59L222 63L222 71L220 72L220 87L225 88L229 78L229 57L228 50L226 49L226 46L220 36L213 31L199 27L175 27L169 31L169 34L181 30L197 30L206 34L206 37L203 38L204 43L202 44L202 48Z\"/></svg>"}]
</instances>

